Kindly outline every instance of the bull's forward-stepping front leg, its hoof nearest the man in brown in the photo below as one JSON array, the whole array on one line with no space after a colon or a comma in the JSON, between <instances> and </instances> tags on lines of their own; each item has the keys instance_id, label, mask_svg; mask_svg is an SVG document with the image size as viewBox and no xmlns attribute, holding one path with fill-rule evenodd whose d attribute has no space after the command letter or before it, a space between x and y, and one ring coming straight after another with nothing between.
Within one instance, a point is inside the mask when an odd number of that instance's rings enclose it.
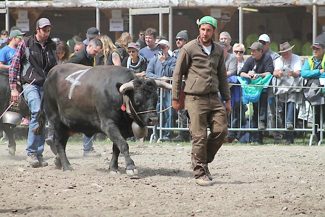
<instances>
[{"instance_id":1,"label":"bull's forward-stepping front leg, its hoof nearest the man in brown","mask_svg":"<svg viewBox=\"0 0 325 217\"><path fill-rule=\"evenodd\" d=\"M101 121L101 129L105 132L105 134L110 138L110 140L116 144L119 151L122 152L125 159L125 167L127 175L135 175L138 173L133 160L131 159L128 153L128 144L120 134L118 130L118 126L113 122ZM117 160L117 157L116 157Z\"/></svg>"}]
</instances>

